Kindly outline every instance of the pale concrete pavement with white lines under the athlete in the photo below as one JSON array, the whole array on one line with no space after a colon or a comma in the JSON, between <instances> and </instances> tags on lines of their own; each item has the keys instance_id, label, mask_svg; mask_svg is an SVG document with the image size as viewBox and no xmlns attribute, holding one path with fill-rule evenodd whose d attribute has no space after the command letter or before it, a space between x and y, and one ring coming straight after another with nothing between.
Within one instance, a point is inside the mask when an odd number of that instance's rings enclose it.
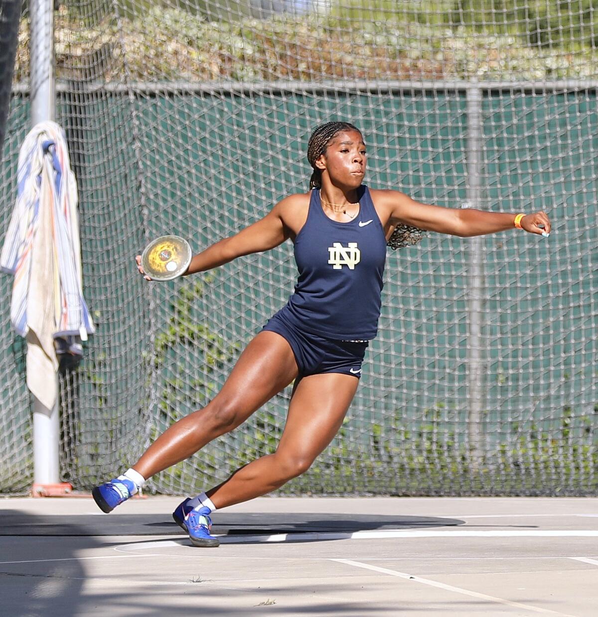
<instances>
[{"instance_id":1,"label":"pale concrete pavement with white lines under the athlete","mask_svg":"<svg viewBox=\"0 0 598 617\"><path fill-rule=\"evenodd\" d=\"M0 615L598 617L598 499L0 499Z\"/></svg>"}]
</instances>

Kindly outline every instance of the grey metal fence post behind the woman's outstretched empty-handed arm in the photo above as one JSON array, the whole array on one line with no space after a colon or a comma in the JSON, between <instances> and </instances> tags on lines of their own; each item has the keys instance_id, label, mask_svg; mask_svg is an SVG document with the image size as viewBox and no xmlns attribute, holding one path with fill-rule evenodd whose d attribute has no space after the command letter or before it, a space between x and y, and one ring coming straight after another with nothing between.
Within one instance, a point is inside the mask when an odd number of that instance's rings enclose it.
<instances>
[{"instance_id":1,"label":"grey metal fence post behind the woman's outstretched empty-handed arm","mask_svg":"<svg viewBox=\"0 0 598 617\"><path fill-rule=\"evenodd\" d=\"M482 91L467 90L467 204L464 207L479 208L481 205L481 152L482 152ZM468 344L467 344L467 389L468 418L467 437L474 468L477 468L483 452L481 430L484 409L484 354L481 336L481 321L484 304L483 239L471 238L468 242Z\"/></svg>"}]
</instances>

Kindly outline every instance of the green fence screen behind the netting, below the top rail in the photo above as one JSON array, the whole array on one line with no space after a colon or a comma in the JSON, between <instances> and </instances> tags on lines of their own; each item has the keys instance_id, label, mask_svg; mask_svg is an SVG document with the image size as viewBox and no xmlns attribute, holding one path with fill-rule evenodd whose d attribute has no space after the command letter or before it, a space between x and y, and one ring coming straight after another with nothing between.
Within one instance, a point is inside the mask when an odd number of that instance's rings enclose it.
<instances>
[{"instance_id":1,"label":"green fence screen behind the netting, below the top rail","mask_svg":"<svg viewBox=\"0 0 598 617\"><path fill-rule=\"evenodd\" d=\"M14 114L24 105L14 101ZM64 384L75 401L64 468L81 486L131 462L156 431L209 400L293 291L289 244L209 278L146 285L133 257L150 238L178 233L199 251L305 191L307 137L336 118L362 129L371 186L451 207L466 199L464 93L96 93L64 97L59 117L80 188L85 296L98 322L88 358ZM596 93L486 93L482 118L480 207L542 209L554 223L549 239L516 230L483 239L483 469L467 452L471 243L429 234L389 249L380 336L350 420L289 490L334 492L339 479L348 492L396 494L596 488ZM9 164L14 150L5 179ZM11 340L5 331L5 349ZM288 396L154 487L188 490L197 470L217 481L271 451Z\"/></svg>"}]
</instances>

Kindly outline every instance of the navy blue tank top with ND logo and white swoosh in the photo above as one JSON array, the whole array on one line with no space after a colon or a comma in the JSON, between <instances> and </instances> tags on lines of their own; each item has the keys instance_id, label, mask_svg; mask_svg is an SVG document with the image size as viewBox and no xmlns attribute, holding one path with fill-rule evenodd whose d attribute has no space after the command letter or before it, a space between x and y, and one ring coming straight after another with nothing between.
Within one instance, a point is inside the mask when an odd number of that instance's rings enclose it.
<instances>
[{"instance_id":1,"label":"navy blue tank top with ND logo and white swoosh","mask_svg":"<svg viewBox=\"0 0 598 617\"><path fill-rule=\"evenodd\" d=\"M314 189L295 238L299 279L284 312L307 332L331 339L373 339L380 317L386 238L367 186L347 222L328 218Z\"/></svg>"}]
</instances>

